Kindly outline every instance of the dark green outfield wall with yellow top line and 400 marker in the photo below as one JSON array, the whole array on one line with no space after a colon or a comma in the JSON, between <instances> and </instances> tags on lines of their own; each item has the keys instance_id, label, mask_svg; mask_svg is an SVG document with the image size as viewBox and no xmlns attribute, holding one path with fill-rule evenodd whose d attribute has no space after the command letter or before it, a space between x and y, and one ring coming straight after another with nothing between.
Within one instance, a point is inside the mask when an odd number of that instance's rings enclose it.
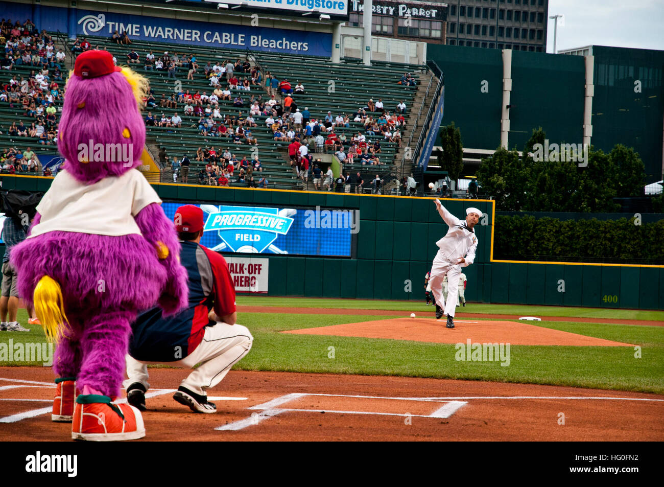
<instances>
[{"instance_id":1,"label":"dark green outfield wall with yellow top line and 400 marker","mask_svg":"<svg viewBox=\"0 0 664 487\"><path fill-rule=\"evenodd\" d=\"M29 191L46 191L52 181L21 176L0 180L3 189ZM424 274L438 251L436 241L447 231L430 198L163 183L153 187L164 201L359 210L353 258L262 254L270 259L272 296L424 300ZM492 262L493 201L443 203L459 217L469 205L486 214L475 227L479 241L475 264L463 268L469 301L664 310L664 266Z\"/></svg>"}]
</instances>

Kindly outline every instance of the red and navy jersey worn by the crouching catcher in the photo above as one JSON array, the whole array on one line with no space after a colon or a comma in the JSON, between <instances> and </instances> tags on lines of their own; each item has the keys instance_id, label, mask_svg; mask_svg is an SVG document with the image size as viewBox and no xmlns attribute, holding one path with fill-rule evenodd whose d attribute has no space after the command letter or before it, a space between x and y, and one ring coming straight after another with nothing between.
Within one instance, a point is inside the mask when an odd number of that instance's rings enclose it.
<instances>
[{"instance_id":1,"label":"red and navy jersey worn by the crouching catcher","mask_svg":"<svg viewBox=\"0 0 664 487\"><path fill-rule=\"evenodd\" d=\"M221 254L195 242L181 242L180 262L189 274L189 306L164 318L161 308L139 314L129 342L129 355L137 360L173 362L199 346L210 308L217 316L235 312L235 288Z\"/></svg>"}]
</instances>

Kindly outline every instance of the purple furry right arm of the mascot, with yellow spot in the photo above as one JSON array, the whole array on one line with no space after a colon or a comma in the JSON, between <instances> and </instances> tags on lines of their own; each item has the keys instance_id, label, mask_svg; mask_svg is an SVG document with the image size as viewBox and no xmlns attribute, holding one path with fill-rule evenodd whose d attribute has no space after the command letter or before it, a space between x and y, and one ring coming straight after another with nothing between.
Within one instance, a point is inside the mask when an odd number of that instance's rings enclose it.
<instances>
[{"instance_id":1,"label":"purple furry right arm of the mascot, with yellow spot","mask_svg":"<svg viewBox=\"0 0 664 487\"><path fill-rule=\"evenodd\" d=\"M189 302L187 270L179 265L180 243L173 231L173 222L165 215L161 206L151 203L134 217L143 239L155 247L159 262L166 268L168 280L159 296L159 307L163 316L175 314Z\"/></svg>"}]
</instances>

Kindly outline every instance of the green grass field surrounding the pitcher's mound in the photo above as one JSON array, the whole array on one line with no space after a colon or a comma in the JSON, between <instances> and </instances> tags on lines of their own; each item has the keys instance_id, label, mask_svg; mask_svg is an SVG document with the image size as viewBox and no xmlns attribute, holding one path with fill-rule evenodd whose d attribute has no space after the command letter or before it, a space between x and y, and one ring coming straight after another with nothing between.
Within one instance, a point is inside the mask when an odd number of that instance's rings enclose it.
<instances>
[{"instance_id":1,"label":"green grass field surrounding the pitcher's mound","mask_svg":"<svg viewBox=\"0 0 664 487\"><path fill-rule=\"evenodd\" d=\"M256 298L238 296L238 305L353 308L394 310L395 316L414 311L430 316L431 306L414 302L315 300L307 298ZM465 312L535 316L580 316L662 320L663 312L469 304ZM618 315L618 316L617 316ZM577 322L529 322L606 340L635 343L633 347L511 346L511 361L456 361L454 345L416 341L380 340L334 336L280 334L284 330L389 318L371 315L243 313L238 322L254 335L252 351L236 369L312 373L401 375L484 381L569 385L598 389L664 393L664 327ZM27 326L25 310L19 321ZM0 343L43 341L41 328L29 333L0 332ZM333 347L330 348L330 347ZM332 353L333 351L333 353ZM332 358L333 356L333 358ZM0 362L0 365L37 365ZM41 364L40 364L41 365Z\"/></svg>"}]
</instances>

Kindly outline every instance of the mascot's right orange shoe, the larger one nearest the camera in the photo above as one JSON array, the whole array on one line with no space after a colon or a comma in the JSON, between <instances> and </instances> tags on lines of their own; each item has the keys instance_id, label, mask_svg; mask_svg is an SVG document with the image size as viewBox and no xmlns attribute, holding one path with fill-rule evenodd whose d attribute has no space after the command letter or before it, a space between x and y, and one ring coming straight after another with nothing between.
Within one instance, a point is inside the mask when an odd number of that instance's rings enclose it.
<instances>
[{"instance_id":1,"label":"mascot's right orange shoe, the larger one nearest the camera","mask_svg":"<svg viewBox=\"0 0 664 487\"><path fill-rule=\"evenodd\" d=\"M76 397L72 439L87 441L137 440L145 436L141 412L128 404L113 404L108 396Z\"/></svg>"}]
</instances>

